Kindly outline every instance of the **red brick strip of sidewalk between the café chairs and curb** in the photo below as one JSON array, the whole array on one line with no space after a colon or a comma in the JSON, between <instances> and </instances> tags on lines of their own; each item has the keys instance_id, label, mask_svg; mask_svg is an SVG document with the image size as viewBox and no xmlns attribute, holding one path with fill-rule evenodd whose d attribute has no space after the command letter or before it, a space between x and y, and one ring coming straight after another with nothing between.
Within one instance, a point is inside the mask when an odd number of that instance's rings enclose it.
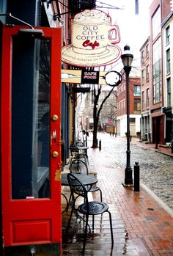
<instances>
[{"instance_id":1,"label":"red brick strip of sidewalk between the caf\u00e9 chairs and curb","mask_svg":"<svg viewBox=\"0 0 173 256\"><path fill-rule=\"evenodd\" d=\"M144 189L134 193L132 188L124 188L124 170L117 167L114 158L105 157L103 152L98 154L96 150L92 156L100 188L104 191L103 201L115 205L128 237L143 244L150 255L173 255L172 216ZM147 255L138 252L139 255Z\"/></svg>"}]
</instances>

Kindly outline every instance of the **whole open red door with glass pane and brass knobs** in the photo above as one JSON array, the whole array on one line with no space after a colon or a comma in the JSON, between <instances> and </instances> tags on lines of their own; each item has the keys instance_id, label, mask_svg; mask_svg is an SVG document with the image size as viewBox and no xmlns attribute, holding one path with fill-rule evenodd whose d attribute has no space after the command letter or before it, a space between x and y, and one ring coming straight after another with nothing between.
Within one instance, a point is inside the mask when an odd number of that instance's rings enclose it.
<instances>
[{"instance_id":1,"label":"whole open red door with glass pane and brass knobs","mask_svg":"<svg viewBox=\"0 0 173 256\"><path fill-rule=\"evenodd\" d=\"M4 26L2 48L4 246L54 244L59 252L61 30Z\"/></svg>"}]
</instances>

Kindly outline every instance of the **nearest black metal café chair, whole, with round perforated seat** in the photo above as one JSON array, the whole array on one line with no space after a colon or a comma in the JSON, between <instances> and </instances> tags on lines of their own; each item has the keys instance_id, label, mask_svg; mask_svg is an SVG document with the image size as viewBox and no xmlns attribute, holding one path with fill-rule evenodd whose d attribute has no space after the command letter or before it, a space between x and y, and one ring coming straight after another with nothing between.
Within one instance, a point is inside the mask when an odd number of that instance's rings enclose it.
<instances>
[{"instance_id":1,"label":"nearest black metal caf\u00e9 chair, whole, with round perforated seat","mask_svg":"<svg viewBox=\"0 0 173 256\"><path fill-rule=\"evenodd\" d=\"M75 213L81 213L83 216L86 218L84 219L85 222L85 230L84 230L84 242L83 242L83 249L82 249L82 254L84 254L85 251L85 245L87 241L87 227L89 227L88 221L89 221L89 216L92 216L92 230L94 230L94 216L98 214L103 214L103 213L108 213L109 215L109 222L110 222L110 228L111 228L111 249L113 249L114 246L114 236L113 236L113 229L112 229L112 221L111 221L111 213L108 211L108 205L105 202L96 202L92 201L89 202L88 200L88 190L84 186L83 183L81 183L81 180L76 178L75 175L72 173L67 174L67 179L68 183L70 185L70 191L72 194L72 210L70 213L70 218L68 221L68 226L67 228L70 227L70 222L71 218L73 215L73 212ZM84 197L84 203L78 206L76 208L76 194L78 196ZM81 219L83 219L81 217ZM90 227L89 227L90 230Z\"/></svg>"}]
</instances>

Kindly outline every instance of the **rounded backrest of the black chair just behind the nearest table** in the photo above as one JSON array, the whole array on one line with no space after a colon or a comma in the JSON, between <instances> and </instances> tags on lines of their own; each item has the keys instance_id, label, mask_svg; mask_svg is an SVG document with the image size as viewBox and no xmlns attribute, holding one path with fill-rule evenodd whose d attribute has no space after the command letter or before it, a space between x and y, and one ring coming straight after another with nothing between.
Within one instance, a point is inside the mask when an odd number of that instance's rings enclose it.
<instances>
[{"instance_id":1,"label":"rounded backrest of the black chair just behind the nearest table","mask_svg":"<svg viewBox=\"0 0 173 256\"><path fill-rule=\"evenodd\" d=\"M80 159L74 159L70 163L70 173L81 173L88 175L88 167L87 164L84 163L84 161L81 161Z\"/></svg>"}]
</instances>

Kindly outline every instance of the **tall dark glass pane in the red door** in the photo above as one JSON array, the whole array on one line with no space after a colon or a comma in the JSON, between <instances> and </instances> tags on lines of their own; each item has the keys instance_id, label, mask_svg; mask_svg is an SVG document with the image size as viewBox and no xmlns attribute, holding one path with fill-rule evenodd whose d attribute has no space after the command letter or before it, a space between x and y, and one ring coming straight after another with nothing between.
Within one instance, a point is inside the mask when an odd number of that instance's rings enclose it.
<instances>
[{"instance_id":1,"label":"tall dark glass pane in the red door","mask_svg":"<svg viewBox=\"0 0 173 256\"><path fill-rule=\"evenodd\" d=\"M12 199L50 197L51 40L12 42Z\"/></svg>"}]
</instances>

